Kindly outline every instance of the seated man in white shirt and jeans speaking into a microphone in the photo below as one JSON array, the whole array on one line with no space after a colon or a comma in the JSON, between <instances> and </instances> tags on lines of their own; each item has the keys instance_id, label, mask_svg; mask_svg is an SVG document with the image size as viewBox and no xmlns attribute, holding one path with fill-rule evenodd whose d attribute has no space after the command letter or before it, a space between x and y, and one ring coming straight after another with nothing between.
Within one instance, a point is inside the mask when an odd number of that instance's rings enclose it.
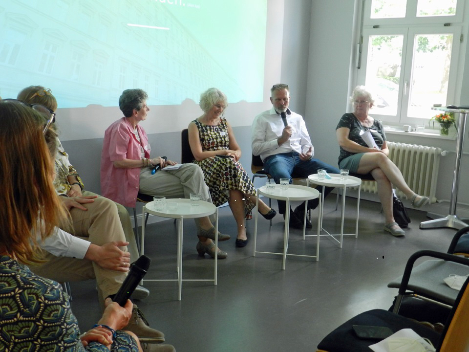
<instances>
[{"instance_id":1,"label":"seated man in white shirt and jeans speaking into a microphone","mask_svg":"<svg viewBox=\"0 0 469 352\"><path fill-rule=\"evenodd\" d=\"M313 158L314 148L302 116L288 109L288 85L277 84L270 91L273 107L257 115L252 127L253 154L260 155L264 170L276 183L280 183L280 178L290 178L292 183L292 177L307 177L320 169L329 174L340 173L339 169ZM282 112L286 114L287 126L283 124ZM318 187L319 191L321 189ZM323 197L331 191L332 188L326 187ZM318 204L318 199L310 200L308 208L315 209ZM304 211L304 202L295 211L290 209L290 226L303 228ZM278 212L285 218L285 201L278 200ZM309 220L306 227L312 228Z\"/></svg>"}]
</instances>

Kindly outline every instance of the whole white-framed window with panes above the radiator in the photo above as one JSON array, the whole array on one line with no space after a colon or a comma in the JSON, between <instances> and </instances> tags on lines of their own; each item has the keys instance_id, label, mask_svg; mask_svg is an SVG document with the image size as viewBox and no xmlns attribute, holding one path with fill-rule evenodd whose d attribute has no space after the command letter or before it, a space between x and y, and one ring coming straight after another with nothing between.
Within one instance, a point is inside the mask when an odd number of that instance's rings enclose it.
<instances>
[{"instance_id":1,"label":"whole white-framed window with panes above the radiator","mask_svg":"<svg viewBox=\"0 0 469 352\"><path fill-rule=\"evenodd\" d=\"M433 104L458 100L462 5L463 0L365 0L357 84L376 95L371 115L387 123L422 124L435 115Z\"/></svg>"}]
</instances>

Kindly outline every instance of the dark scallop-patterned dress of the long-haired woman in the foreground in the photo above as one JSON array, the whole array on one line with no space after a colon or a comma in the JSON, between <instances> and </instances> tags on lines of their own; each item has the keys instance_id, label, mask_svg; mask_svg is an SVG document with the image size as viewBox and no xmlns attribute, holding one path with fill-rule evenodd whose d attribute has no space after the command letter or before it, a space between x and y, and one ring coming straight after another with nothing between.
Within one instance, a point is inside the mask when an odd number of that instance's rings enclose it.
<instances>
[{"instance_id":1,"label":"dark scallop-patterned dress of the long-haired woman in the foreground","mask_svg":"<svg viewBox=\"0 0 469 352\"><path fill-rule=\"evenodd\" d=\"M0 256L0 352L109 352L97 342L83 347L79 336L77 319L62 286ZM128 333L116 331L111 352L137 351Z\"/></svg>"}]
</instances>

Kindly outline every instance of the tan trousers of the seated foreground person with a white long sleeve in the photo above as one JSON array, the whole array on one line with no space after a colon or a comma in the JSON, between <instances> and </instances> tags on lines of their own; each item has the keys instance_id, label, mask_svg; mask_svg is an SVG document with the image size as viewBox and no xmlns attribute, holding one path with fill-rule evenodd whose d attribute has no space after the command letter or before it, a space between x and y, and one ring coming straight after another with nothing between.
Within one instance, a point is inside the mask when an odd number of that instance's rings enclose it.
<instances>
[{"instance_id":1,"label":"tan trousers of the seated foreground person with a white long sleeve","mask_svg":"<svg viewBox=\"0 0 469 352\"><path fill-rule=\"evenodd\" d=\"M91 192L84 193L85 195L92 195ZM112 241L126 241L118 207L112 200L98 197L94 199L94 202L84 204L84 206L88 209L87 211L77 208L70 210L73 226L72 235L81 237L96 245ZM130 224L130 220L128 220L128 223ZM135 242L135 239L133 242ZM121 249L127 251L127 247ZM102 293L102 296L99 297L100 300L117 293L127 277L127 273L103 269L98 264L85 259L56 257L47 253L46 260L47 262L43 264L29 265L31 271L58 282L96 279L98 290Z\"/></svg>"}]
</instances>

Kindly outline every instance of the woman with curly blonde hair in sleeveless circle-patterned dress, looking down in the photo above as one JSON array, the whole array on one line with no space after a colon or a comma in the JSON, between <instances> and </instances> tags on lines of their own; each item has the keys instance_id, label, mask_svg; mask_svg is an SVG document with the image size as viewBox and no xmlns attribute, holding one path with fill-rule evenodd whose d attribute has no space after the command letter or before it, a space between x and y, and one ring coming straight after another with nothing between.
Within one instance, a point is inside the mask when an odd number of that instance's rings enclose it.
<instances>
[{"instance_id":1,"label":"woman with curly blonde hair in sleeveless circle-patterned dress, looking down","mask_svg":"<svg viewBox=\"0 0 469 352\"><path fill-rule=\"evenodd\" d=\"M244 218L256 205L256 189L239 163L241 148L233 129L222 117L228 100L222 91L209 88L200 95L199 105L203 115L189 124L193 162L204 171L213 204L228 201L237 224L236 246L244 247L248 242ZM258 208L268 220L277 214L260 199Z\"/></svg>"}]
</instances>

